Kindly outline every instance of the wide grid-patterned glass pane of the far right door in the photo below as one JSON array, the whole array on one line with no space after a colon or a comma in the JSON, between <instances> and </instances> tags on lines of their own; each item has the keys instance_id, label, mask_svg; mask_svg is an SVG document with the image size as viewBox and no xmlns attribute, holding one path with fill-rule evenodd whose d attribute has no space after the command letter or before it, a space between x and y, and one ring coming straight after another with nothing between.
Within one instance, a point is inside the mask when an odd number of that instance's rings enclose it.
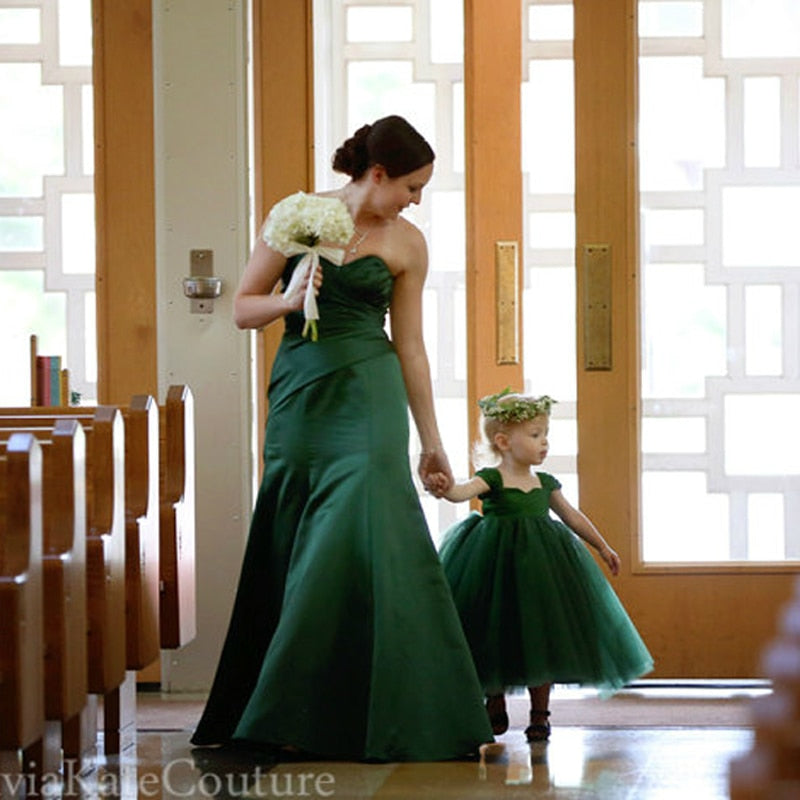
<instances>
[{"instance_id":1,"label":"wide grid-patterned glass pane of the far right door","mask_svg":"<svg viewBox=\"0 0 800 800\"><path fill-rule=\"evenodd\" d=\"M644 558L800 559L800 5L639 34Z\"/></svg>"}]
</instances>

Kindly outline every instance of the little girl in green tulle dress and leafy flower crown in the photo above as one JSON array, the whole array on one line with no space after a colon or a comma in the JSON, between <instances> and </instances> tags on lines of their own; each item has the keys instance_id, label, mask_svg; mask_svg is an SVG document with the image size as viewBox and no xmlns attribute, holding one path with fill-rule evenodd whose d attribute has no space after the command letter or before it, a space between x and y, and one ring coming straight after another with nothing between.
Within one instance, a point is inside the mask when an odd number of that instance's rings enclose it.
<instances>
[{"instance_id":1,"label":"little girl in green tulle dress and leafy flower crown","mask_svg":"<svg viewBox=\"0 0 800 800\"><path fill-rule=\"evenodd\" d=\"M492 729L496 734L508 729L505 690L527 686L529 742L550 736L552 683L610 693L653 667L581 539L597 550L612 575L619 572L619 556L564 498L552 475L531 470L547 456L554 402L508 389L480 400L486 444L497 466L480 469L444 494L453 502L483 501L483 515L473 512L445 534L441 558L487 695ZM550 509L563 522L553 519Z\"/></svg>"}]
</instances>

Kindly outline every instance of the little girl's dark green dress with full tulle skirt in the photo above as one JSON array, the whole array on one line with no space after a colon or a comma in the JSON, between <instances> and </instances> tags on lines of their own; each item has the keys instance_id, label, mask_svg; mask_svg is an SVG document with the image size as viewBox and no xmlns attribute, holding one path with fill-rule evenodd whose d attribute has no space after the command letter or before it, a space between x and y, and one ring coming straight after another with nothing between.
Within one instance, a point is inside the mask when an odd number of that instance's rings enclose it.
<instances>
[{"instance_id":1,"label":"little girl's dark green dress with full tulle skirt","mask_svg":"<svg viewBox=\"0 0 800 800\"><path fill-rule=\"evenodd\" d=\"M440 555L488 693L568 683L619 689L649 672L653 659L584 542L550 516L561 488L506 489L496 469L483 514L444 535Z\"/></svg>"}]
</instances>

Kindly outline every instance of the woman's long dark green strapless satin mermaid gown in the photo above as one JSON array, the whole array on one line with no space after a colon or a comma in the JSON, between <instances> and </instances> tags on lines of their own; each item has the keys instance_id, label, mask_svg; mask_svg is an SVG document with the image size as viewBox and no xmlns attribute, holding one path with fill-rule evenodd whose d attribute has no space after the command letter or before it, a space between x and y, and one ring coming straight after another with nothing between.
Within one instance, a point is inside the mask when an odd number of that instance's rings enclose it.
<instances>
[{"instance_id":1,"label":"woman's long dark green strapless satin mermaid gown","mask_svg":"<svg viewBox=\"0 0 800 800\"><path fill-rule=\"evenodd\" d=\"M301 314L286 319L263 481L195 744L434 761L492 740L411 479L384 332L393 284L376 256L326 261L319 340L302 338Z\"/></svg>"}]
</instances>

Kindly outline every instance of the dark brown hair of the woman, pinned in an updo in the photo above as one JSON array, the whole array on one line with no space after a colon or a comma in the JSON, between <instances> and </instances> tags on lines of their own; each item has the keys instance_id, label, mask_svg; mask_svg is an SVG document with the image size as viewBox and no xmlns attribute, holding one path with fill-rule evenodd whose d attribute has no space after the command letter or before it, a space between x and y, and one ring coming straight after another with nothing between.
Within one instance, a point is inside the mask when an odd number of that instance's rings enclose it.
<instances>
[{"instance_id":1,"label":"dark brown hair of the woman, pinned in an updo","mask_svg":"<svg viewBox=\"0 0 800 800\"><path fill-rule=\"evenodd\" d=\"M403 117L392 115L360 127L333 154L333 169L358 180L380 164L390 178L408 175L435 158L424 137Z\"/></svg>"}]
</instances>

